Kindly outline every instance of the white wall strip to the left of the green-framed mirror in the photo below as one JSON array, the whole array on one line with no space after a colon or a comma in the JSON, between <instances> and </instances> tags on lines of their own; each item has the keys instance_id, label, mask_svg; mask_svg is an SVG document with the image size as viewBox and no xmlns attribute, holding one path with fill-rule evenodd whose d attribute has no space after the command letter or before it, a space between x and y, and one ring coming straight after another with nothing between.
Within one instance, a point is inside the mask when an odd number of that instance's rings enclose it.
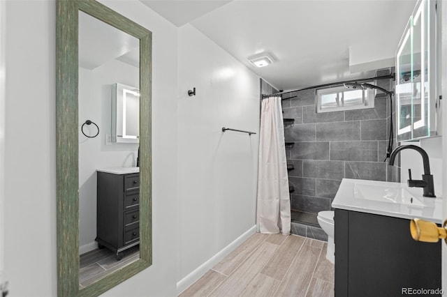
<instances>
[{"instance_id":1,"label":"white wall strip to the left of the green-framed mirror","mask_svg":"<svg viewBox=\"0 0 447 297\"><path fill-rule=\"evenodd\" d=\"M12 296L56 295L55 6L6 1L5 271Z\"/></svg>"}]
</instances>

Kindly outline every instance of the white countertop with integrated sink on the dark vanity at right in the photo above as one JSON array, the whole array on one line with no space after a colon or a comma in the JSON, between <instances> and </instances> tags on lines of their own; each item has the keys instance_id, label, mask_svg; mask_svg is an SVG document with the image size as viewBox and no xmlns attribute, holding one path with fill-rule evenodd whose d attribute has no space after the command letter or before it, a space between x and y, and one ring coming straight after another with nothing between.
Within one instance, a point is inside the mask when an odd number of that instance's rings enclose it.
<instances>
[{"instance_id":1,"label":"white countertop with integrated sink on the dark vanity at right","mask_svg":"<svg viewBox=\"0 0 447 297\"><path fill-rule=\"evenodd\" d=\"M332 207L442 224L441 197L423 197L422 194L422 188L409 188L405 183L343 178Z\"/></svg>"}]
</instances>

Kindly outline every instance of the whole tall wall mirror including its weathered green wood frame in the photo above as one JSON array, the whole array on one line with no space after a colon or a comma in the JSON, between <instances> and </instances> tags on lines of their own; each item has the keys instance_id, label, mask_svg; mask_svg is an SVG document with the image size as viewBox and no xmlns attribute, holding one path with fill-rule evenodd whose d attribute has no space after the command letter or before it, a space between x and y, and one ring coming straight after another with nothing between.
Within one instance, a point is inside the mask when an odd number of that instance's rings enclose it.
<instances>
[{"instance_id":1,"label":"whole tall wall mirror including its weathered green wood frame","mask_svg":"<svg viewBox=\"0 0 447 297\"><path fill-rule=\"evenodd\" d=\"M102 294L152 264L150 71L150 31L93 0L57 1L60 296Z\"/></svg>"}]
</instances>

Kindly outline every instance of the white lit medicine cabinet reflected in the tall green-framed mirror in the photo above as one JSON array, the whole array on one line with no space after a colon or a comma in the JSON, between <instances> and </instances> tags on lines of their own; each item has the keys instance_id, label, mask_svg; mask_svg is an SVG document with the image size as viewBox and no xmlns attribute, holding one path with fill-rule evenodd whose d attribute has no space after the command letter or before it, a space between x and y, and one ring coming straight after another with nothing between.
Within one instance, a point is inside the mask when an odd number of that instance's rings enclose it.
<instances>
[{"instance_id":1,"label":"white lit medicine cabinet reflected in the tall green-framed mirror","mask_svg":"<svg viewBox=\"0 0 447 297\"><path fill-rule=\"evenodd\" d=\"M112 84L112 142L140 142L140 90Z\"/></svg>"}]
</instances>

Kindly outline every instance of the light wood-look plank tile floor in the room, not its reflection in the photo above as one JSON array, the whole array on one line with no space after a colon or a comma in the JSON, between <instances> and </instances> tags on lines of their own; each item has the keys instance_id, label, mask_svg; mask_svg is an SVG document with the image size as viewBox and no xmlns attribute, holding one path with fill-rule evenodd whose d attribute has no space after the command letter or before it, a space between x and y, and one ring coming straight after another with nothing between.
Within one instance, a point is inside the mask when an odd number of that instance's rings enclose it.
<instances>
[{"instance_id":1,"label":"light wood-look plank tile floor in the room, not its reflection","mask_svg":"<svg viewBox=\"0 0 447 297\"><path fill-rule=\"evenodd\" d=\"M302 236L256 233L179 297L334 296L326 248Z\"/></svg>"}]
</instances>

